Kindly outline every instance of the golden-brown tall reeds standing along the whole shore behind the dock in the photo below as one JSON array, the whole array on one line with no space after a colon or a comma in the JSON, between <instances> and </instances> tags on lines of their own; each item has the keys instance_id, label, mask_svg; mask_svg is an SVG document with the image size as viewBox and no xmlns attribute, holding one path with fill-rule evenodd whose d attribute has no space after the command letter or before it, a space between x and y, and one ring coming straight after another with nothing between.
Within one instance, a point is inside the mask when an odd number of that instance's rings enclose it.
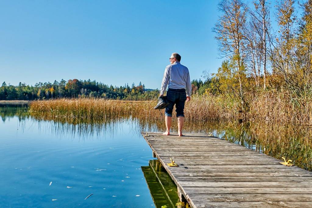
<instances>
[{"instance_id":1,"label":"golden-brown tall reeds standing along the whole shore behind the dock","mask_svg":"<svg viewBox=\"0 0 312 208\"><path fill-rule=\"evenodd\" d=\"M229 121L312 125L312 100L296 97L289 91L264 91L248 97L248 111L242 116L239 102L214 95L193 95L185 104L186 122ZM141 120L163 119L164 110L154 110L157 100L122 101L96 98L50 99L33 101L32 115L46 118L84 119L99 122L105 119L133 117ZM173 120L176 113L173 111Z\"/></svg>"}]
</instances>

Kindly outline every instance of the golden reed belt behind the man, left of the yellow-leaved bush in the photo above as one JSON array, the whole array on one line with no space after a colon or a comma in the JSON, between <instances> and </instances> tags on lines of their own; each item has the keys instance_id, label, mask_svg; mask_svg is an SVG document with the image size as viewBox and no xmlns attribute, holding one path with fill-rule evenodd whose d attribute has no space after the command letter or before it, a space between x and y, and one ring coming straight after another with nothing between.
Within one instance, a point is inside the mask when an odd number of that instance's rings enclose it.
<instances>
[{"instance_id":1,"label":"golden reed belt behind the man, left of the yellow-leaved bush","mask_svg":"<svg viewBox=\"0 0 312 208\"><path fill-rule=\"evenodd\" d=\"M90 122L124 116L138 119L162 119L164 110L154 110L157 100L122 101L95 98L37 100L30 104L31 114L51 118L84 118ZM232 109L222 106L212 96L193 96L185 104L186 121L217 121L232 119ZM173 110L173 119L176 113Z\"/></svg>"}]
</instances>

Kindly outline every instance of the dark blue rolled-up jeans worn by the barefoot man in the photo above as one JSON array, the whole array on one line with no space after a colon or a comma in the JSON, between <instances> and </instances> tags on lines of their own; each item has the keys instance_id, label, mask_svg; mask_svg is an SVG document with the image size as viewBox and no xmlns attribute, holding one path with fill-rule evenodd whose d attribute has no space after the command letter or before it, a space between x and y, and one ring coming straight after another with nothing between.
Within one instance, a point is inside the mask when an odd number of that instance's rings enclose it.
<instances>
[{"instance_id":1,"label":"dark blue rolled-up jeans worn by the barefoot man","mask_svg":"<svg viewBox=\"0 0 312 208\"><path fill-rule=\"evenodd\" d=\"M184 117L184 104L185 104L185 100L186 100L185 89L168 88L167 99L168 99L170 104L166 107L165 116L172 117L172 110L173 110L173 106L175 104L177 117L179 117L179 116Z\"/></svg>"}]
</instances>

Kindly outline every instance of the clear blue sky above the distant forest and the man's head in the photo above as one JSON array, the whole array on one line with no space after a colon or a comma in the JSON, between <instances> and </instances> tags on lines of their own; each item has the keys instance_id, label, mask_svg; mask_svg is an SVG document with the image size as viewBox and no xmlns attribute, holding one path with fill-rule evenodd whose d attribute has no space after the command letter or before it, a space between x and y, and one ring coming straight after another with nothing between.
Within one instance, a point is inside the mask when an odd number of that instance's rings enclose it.
<instances>
[{"instance_id":1,"label":"clear blue sky above the distant forest and the man's head","mask_svg":"<svg viewBox=\"0 0 312 208\"><path fill-rule=\"evenodd\" d=\"M217 0L1 1L0 84L61 79L160 88L172 52L216 72Z\"/></svg>"}]
</instances>

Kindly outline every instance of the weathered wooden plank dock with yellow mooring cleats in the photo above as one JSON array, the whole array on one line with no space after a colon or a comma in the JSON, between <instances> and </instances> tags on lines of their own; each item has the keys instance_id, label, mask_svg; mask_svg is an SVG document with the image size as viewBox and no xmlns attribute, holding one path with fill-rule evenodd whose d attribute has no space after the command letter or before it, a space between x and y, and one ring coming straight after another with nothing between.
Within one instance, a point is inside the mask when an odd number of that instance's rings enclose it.
<instances>
[{"instance_id":1,"label":"weathered wooden plank dock with yellow mooring cleats","mask_svg":"<svg viewBox=\"0 0 312 208\"><path fill-rule=\"evenodd\" d=\"M206 133L171 134L142 132L191 207L312 207L312 172Z\"/></svg>"}]
</instances>

